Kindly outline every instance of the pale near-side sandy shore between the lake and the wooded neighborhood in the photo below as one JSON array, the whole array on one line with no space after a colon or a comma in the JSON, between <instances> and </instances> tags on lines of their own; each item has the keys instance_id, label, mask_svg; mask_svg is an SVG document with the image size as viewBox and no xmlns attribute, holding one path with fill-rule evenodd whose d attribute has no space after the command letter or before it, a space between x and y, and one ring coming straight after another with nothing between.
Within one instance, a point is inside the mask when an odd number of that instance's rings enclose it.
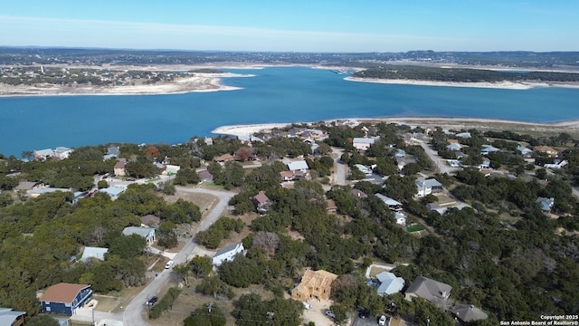
<instances>
[{"instance_id":1,"label":"pale near-side sandy shore between the lake and the wooded neighborhood","mask_svg":"<svg viewBox=\"0 0 579 326\"><path fill-rule=\"evenodd\" d=\"M516 130L536 130L555 132L579 132L579 120L568 120L550 123L524 122L516 120L498 120L481 118L455 118L455 117L383 117L383 118L347 118L347 120L357 120L359 122L403 122L405 124L422 127L441 127L449 129L510 129ZM331 122L335 120L327 120ZM283 129L292 123L304 124L314 122L288 122L288 123L263 123L251 125L231 125L222 126L212 132L218 135L229 135L235 137L246 137L258 132L268 132L271 129Z\"/></svg>"}]
</instances>

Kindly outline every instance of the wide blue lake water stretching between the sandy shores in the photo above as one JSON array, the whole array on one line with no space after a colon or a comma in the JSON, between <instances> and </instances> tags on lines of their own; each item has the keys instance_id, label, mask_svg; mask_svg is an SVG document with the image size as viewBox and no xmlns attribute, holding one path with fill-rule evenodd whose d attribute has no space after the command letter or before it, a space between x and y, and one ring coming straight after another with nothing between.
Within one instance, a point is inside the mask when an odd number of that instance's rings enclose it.
<instances>
[{"instance_id":1,"label":"wide blue lake water stretching between the sandy shores","mask_svg":"<svg viewBox=\"0 0 579 326\"><path fill-rule=\"evenodd\" d=\"M443 116L579 119L579 89L526 91L346 82L306 67L232 70L239 91L0 98L0 153L104 143L185 142L223 125L337 118Z\"/></svg>"}]
</instances>

